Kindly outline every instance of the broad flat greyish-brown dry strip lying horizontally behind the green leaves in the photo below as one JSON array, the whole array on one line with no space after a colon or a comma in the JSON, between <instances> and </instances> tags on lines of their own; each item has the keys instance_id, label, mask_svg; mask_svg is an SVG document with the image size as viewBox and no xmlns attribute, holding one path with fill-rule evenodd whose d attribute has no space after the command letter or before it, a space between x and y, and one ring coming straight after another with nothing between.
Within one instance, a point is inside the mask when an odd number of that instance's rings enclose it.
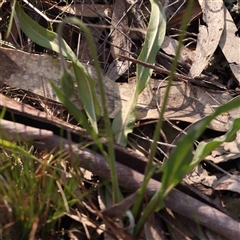
<instances>
[{"instance_id":1,"label":"broad flat greyish-brown dry strip lying horizontally behind the green leaves","mask_svg":"<svg viewBox=\"0 0 240 240\"><path fill-rule=\"evenodd\" d=\"M59 86L61 74L60 61L48 55L24 53L18 50L0 48L0 82L39 94L48 99L58 101L48 79ZM72 70L71 63L67 63ZM89 74L96 79L94 68L85 65ZM114 118L122 105L129 100L136 87L136 79L129 79L129 83L115 83L104 77L105 92L109 116ZM139 96L136 114L137 119L157 119L159 117L158 105L161 106L165 94L166 82L150 80L149 86ZM98 88L96 89L100 99ZM174 82L168 98L165 118L169 120L182 120L195 122L211 114L219 104L231 100L229 93L211 92L192 86L185 82ZM71 99L79 109L82 103L78 91ZM220 115L210 124L210 128L217 131L226 131L234 118L239 117L240 107L234 111Z\"/></svg>"}]
</instances>

